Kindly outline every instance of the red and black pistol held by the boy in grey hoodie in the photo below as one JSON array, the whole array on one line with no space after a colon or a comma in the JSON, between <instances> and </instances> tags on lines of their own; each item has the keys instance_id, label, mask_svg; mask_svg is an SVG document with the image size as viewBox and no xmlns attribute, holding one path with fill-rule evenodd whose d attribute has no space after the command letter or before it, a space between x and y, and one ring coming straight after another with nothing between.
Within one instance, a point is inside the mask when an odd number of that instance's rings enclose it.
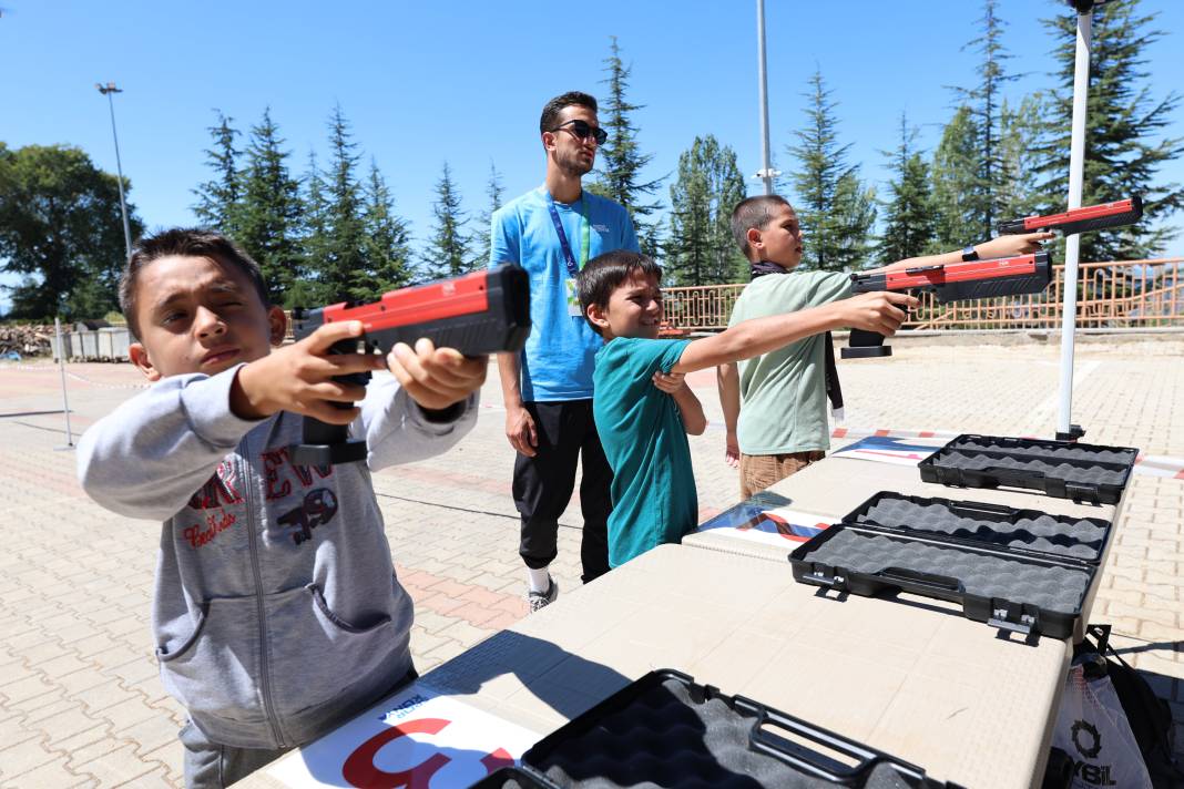
<instances>
[{"instance_id":1,"label":"red and black pistol held by the boy in grey hoodie","mask_svg":"<svg viewBox=\"0 0 1184 789\"><path fill-rule=\"evenodd\" d=\"M427 337L437 348L455 348L465 356L516 353L530 334L530 279L519 266L502 266L390 291L371 304L343 302L316 310L295 310L292 334L303 339L318 326L342 321L361 321L363 334L335 344L330 354L386 354L395 343L413 345L420 337ZM337 380L365 386L369 379L369 373L356 373ZM303 441L289 448L296 465L324 466L366 458L366 441L350 439L347 425L327 425L305 416L303 429Z\"/></svg>"}]
</instances>

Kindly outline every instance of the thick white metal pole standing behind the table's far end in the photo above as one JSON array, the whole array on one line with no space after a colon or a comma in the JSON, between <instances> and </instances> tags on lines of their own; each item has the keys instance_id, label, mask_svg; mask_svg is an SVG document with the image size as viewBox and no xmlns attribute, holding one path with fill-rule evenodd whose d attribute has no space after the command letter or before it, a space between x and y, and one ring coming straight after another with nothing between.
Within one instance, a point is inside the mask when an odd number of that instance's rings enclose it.
<instances>
[{"instance_id":1,"label":"thick white metal pole standing behind the table's far end","mask_svg":"<svg viewBox=\"0 0 1184 789\"><path fill-rule=\"evenodd\" d=\"M1089 93L1089 47L1093 34L1093 11L1077 14L1077 58L1073 71L1073 137L1069 147L1069 208L1081 207L1085 177L1086 109ZM1072 440L1083 434L1074 429L1073 416L1073 351L1077 323L1077 258L1081 235L1074 233L1064 240L1064 304L1061 315L1061 409L1056 436Z\"/></svg>"}]
</instances>

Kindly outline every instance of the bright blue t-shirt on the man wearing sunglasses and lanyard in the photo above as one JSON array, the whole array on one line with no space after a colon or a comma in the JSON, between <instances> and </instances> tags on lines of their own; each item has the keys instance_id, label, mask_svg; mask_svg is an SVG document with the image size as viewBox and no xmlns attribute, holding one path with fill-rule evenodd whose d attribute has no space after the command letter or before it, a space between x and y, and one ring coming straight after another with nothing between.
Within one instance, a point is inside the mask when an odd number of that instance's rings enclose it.
<instances>
[{"instance_id":1,"label":"bright blue t-shirt on the man wearing sunglasses and lanyard","mask_svg":"<svg viewBox=\"0 0 1184 789\"><path fill-rule=\"evenodd\" d=\"M577 264L587 221L588 260L613 250L638 251L629 212L607 198L584 190L571 206L555 203ZM586 218L586 219L585 219ZM522 349L522 400L586 400L592 396L592 366L604 344L583 315L567 310L570 278L559 234L547 209L545 187L527 192L494 212L490 269L516 263L530 274L530 337Z\"/></svg>"}]
</instances>

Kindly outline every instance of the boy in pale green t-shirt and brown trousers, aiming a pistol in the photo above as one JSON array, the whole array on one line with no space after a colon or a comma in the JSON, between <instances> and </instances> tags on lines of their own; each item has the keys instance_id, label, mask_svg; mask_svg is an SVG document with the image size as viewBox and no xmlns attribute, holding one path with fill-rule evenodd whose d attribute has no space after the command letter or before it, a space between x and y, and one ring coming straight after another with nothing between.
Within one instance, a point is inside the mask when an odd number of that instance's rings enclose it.
<instances>
[{"instance_id":1,"label":"boy in pale green t-shirt and brown trousers, aiming a pistol","mask_svg":"<svg viewBox=\"0 0 1184 789\"><path fill-rule=\"evenodd\" d=\"M802 229L785 198L742 200L732 212L732 234L752 265L752 283L736 299L728 325L841 303L851 296L849 273L790 273L802 260ZM909 258L875 271L1027 254L1050 238L1053 233L1003 235L960 252ZM741 499L821 460L830 448L828 339L825 332L813 334L739 364L720 366L720 405L727 428L725 458L728 465L740 466Z\"/></svg>"}]
</instances>

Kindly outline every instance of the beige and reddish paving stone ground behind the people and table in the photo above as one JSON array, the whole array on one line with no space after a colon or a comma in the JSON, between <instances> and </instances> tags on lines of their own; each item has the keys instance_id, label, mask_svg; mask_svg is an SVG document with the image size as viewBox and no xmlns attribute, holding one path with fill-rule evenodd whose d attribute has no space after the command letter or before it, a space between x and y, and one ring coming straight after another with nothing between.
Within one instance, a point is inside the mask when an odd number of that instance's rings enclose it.
<instances>
[{"instance_id":1,"label":"beige and reddish paving stone ground behind the people and table","mask_svg":"<svg viewBox=\"0 0 1184 789\"><path fill-rule=\"evenodd\" d=\"M847 425L1049 435L1055 345L918 347L843 363ZM1087 440L1184 457L1184 338L1077 347ZM128 364L67 367L76 433L142 388ZM701 515L738 499L722 461L714 375L690 376L712 426L691 438ZM431 670L526 615L510 499L513 453L490 369L474 433L445 455L375 474L399 578L416 601L416 665ZM0 364L0 784L180 785L184 711L149 632L160 525L91 503L66 448L58 369ZM1124 658L1172 704L1184 754L1184 481L1135 476L1095 606ZM553 571L579 583L579 505Z\"/></svg>"}]
</instances>

